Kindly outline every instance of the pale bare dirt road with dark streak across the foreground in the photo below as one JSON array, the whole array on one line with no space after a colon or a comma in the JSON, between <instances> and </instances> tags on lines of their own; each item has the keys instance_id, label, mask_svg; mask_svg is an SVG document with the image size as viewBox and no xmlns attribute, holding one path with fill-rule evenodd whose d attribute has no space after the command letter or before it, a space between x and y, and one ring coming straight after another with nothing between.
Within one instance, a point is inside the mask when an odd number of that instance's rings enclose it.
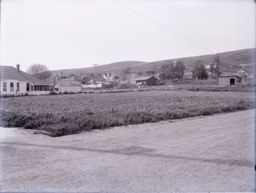
<instances>
[{"instance_id":1,"label":"pale bare dirt road with dark streak across the foreground","mask_svg":"<svg viewBox=\"0 0 256 193\"><path fill-rule=\"evenodd\" d=\"M52 138L0 128L1 191L255 191L255 111Z\"/></svg>"}]
</instances>

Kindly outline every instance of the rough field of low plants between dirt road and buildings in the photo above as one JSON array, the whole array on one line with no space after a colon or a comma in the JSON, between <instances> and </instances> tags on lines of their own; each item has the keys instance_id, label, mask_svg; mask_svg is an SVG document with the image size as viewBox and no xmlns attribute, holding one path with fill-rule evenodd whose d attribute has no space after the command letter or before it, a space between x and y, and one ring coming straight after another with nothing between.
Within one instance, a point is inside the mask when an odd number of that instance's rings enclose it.
<instances>
[{"instance_id":1,"label":"rough field of low plants between dirt road and buildings","mask_svg":"<svg viewBox=\"0 0 256 193\"><path fill-rule=\"evenodd\" d=\"M254 108L254 93L141 91L1 98L2 127L51 136Z\"/></svg>"}]
</instances>

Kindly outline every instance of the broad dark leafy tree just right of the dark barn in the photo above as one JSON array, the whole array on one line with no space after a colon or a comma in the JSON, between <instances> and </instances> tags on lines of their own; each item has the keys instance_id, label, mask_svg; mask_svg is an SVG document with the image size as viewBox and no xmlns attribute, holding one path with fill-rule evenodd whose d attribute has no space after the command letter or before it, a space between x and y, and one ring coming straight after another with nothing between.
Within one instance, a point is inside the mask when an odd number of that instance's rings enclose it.
<instances>
[{"instance_id":1,"label":"broad dark leafy tree just right of the dark barn","mask_svg":"<svg viewBox=\"0 0 256 193\"><path fill-rule=\"evenodd\" d=\"M161 80L181 79L184 75L185 66L178 60L176 64L173 61L165 61L160 67L159 77Z\"/></svg>"}]
</instances>

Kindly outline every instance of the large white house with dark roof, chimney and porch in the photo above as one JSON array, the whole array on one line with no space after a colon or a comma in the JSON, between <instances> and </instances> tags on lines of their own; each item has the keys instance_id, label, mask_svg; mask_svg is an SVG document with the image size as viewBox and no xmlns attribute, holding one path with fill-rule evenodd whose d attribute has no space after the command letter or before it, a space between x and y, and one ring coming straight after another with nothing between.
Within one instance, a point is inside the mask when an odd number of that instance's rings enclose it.
<instances>
[{"instance_id":1,"label":"large white house with dark roof, chimney and porch","mask_svg":"<svg viewBox=\"0 0 256 193\"><path fill-rule=\"evenodd\" d=\"M32 75L24 73L19 69L19 64L15 67L0 66L0 92L1 94L49 94L50 84L41 81Z\"/></svg>"}]
</instances>

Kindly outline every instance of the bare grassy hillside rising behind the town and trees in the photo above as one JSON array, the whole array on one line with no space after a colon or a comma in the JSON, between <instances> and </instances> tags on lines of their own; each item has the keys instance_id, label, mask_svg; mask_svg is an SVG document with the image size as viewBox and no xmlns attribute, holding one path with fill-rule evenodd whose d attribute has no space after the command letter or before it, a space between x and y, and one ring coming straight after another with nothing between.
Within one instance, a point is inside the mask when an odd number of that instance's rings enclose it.
<instances>
[{"instance_id":1,"label":"bare grassy hillside rising behind the town and trees","mask_svg":"<svg viewBox=\"0 0 256 193\"><path fill-rule=\"evenodd\" d=\"M194 56L186 58L174 58L168 60L182 60L184 65L191 69L194 67L197 60L204 60L206 64L213 62L212 56L214 55L203 55L203 56ZM245 49L238 51L230 51L219 53L221 60L221 68L226 68L229 65L238 65L238 64L253 64L255 63L255 49ZM110 71L111 73L121 74L121 69L127 66L132 68L132 72L146 71L146 70L157 70L161 65L168 60L161 60L155 62L139 62L139 61L124 61L116 62L111 64L99 65L97 66L98 73L105 73ZM60 69L51 71L53 74L62 72L63 74L79 74L79 73L95 73L95 67L87 68L77 68L77 69Z\"/></svg>"}]
</instances>

